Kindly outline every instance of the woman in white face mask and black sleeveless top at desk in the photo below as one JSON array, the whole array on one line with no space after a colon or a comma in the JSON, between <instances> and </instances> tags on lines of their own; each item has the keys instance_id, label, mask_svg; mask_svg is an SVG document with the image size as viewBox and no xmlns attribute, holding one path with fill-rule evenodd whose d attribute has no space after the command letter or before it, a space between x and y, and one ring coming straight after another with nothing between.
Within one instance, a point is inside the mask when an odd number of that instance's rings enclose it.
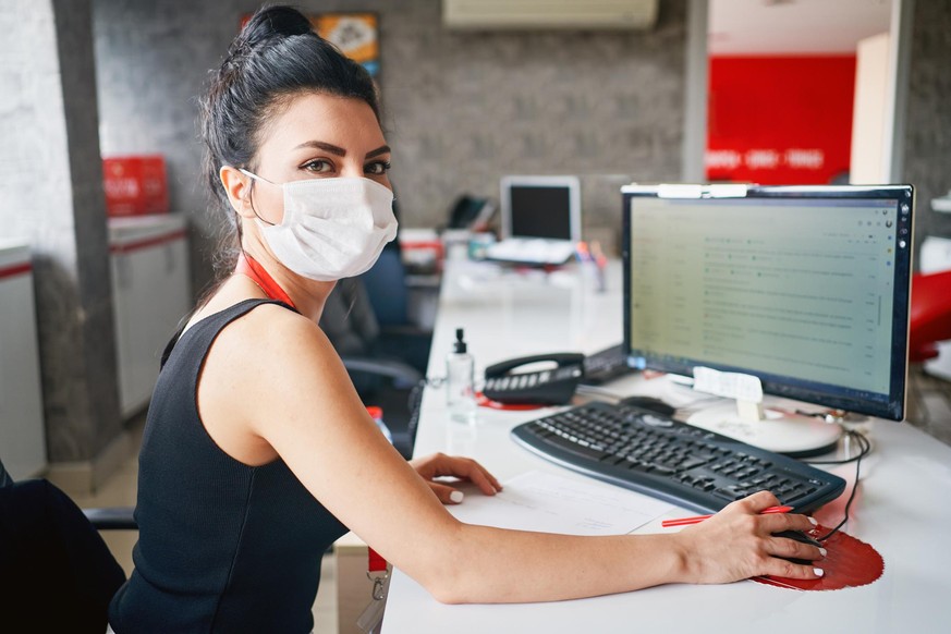
<instances>
[{"instance_id":1,"label":"woman in white face mask and black sleeveless top at desk","mask_svg":"<svg viewBox=\"0 0 951 634\"><path fill-rule=\"evenodd\" d=\"M345 527L447 602L820 574L777 558L820 551L771 536L812 524L760 515L778 503L765 491L674 535L502 531L446 511L461 498L437 476L501 487L472 460L402 460L317 327L334 282L395 233L379 120L363 69L288 8L256 13L212 78L208 180L242 257L167 352L114 631L308 632L320 556Z\"/></svg>"}]
</instances>

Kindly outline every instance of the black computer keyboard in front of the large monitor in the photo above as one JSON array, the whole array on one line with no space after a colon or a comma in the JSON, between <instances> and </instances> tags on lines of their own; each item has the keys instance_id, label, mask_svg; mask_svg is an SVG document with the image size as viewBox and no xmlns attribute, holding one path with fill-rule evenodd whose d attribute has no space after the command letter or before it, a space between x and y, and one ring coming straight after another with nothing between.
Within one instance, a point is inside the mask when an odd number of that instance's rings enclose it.
<instances>
[{"instance_id":1,"label":"black computer keyboard in front of the large monitor","mask_svg":"<svg viewBox=\"0 0 951 634\"><path fill-rule=\"evenodd\" d=\"M629 405L589 403L512 429L562 466L700 512L767 489L806 513L845 480L797 460Z\"/></svg>"}]
</instances>

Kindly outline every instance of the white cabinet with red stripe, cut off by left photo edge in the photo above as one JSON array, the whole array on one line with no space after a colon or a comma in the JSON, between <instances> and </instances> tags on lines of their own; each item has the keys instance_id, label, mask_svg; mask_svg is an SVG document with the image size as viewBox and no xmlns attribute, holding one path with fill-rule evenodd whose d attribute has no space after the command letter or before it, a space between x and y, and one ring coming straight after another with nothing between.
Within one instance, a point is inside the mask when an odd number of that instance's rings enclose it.
<instances>
[{"instance_id":1,"label":"white cabinet with red stripe, cut off by left photo edge","mask_svg":"<svg viewBox=\"0 0 951 634\"><path fill-rule=\"evenodd\" d=\"M13 479L46 470L29 246L0 243L0 459Z\"/></svg>"}]
</instances>

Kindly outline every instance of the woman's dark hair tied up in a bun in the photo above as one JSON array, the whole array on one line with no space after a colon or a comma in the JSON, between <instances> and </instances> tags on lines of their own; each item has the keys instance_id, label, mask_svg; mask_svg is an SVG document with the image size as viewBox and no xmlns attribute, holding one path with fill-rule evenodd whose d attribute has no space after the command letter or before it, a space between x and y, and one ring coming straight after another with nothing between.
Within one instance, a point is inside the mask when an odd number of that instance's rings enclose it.
<instances>
[{"instance_id":1,"label":"woman's dark hair tied up in a bun","mask_svg":"<svg viewBox=\"0 0 951 634\"><path fill-rule=\"evenodd\" d=\"M263 7L248 20L212 71L200 103L204 172L212 206L224 210L219 272L230 269L241 246L241 225L221 186L221 166L247 168L261 142L261 130L286 100L317 92L366 101L380 120L376 86L369 73L314 33L310 22L291 7Z\"/></svg>"}]
</instances>

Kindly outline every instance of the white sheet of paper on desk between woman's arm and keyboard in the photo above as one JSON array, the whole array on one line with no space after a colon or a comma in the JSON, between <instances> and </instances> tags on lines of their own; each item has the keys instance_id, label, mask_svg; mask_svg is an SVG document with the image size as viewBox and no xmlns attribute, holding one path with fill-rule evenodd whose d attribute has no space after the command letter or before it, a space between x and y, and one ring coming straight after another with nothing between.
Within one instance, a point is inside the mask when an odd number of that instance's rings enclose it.
<instances>
[{"instance_id":1,"label":"white sheet of paper on desk between woman's arm and keyboard","mask_svg":"<svg viewBox=\"0 0 951 634\"><path fill-rule=\"evenodd\" d=\"M478 492L449 510L462 522L565 535L624 535L673 507L612 485L528 472L495 496Z\"/></svg>"}]
</instances>

